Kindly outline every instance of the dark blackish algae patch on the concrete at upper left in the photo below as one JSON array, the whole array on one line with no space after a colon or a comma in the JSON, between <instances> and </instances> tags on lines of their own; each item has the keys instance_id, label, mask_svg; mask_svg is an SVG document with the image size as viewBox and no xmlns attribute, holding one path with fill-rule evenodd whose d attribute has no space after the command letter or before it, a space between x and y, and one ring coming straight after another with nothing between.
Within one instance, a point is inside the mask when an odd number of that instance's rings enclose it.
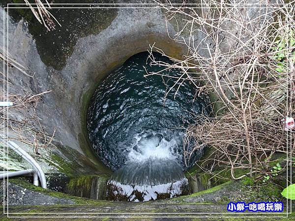
<instances>
[{"instance_id":1,"label":"dark blackish algae patch on the concrete at upper left","mask_svg":"<svg viewBox=\"0 0 295 221\"><path fill-rule=\"evenodd\" d=\"M116 2L117 0L107 0L102 3ZM6 0L6 3L24 3L24 1ZM21 8L24 6L10 5L9 15L16 20L23 17L27 21L29 32L36 41L37 50L43 63L61 70L66 64L66 59L72 55L77 40L90 34L97 34L107 28L116 18L118 9L111 7L81 8L89 7L87 3L94 3L93 0L84 2L79 0L55 0L54 3L60 4L52 5L49 11L59 21L61 27L54 21L56 26L51 31L48 31L43 24L37 21L29 7ZM73 3L73 5L65 5L64 3ZM81 4L74 5L74 3ZM72 8L64 8L65 6Z\"/></svg>"}]
</instances>

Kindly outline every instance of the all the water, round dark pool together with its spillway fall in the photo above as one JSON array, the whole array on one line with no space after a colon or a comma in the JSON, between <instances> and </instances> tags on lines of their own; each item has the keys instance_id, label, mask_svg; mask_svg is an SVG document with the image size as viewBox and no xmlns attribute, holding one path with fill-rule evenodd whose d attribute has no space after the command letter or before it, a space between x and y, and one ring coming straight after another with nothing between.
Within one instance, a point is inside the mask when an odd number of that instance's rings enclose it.
<instances>
[{"instance_id":1,"label":"all the water, round dark pool together with its spillway fall","mask_svg":"<svg viewBox=\"0 0 295 221\"><path fill-rule=\"evenodd\" d=\"M171 62L156 53L154 57ZM179 84L165 97L176 78L144 77L146 70L162 68L149 65L148 53L134 55L102 81L90 102L88 131L93 149L116 171L109 182L111 198L146 201L187 192L183 170L201 153L195 152L184 163L182 128L196 123L197 114L207 114L207 97L196 96L189 82L181 84L176 96Z\"/></svg>"}]
</instances>

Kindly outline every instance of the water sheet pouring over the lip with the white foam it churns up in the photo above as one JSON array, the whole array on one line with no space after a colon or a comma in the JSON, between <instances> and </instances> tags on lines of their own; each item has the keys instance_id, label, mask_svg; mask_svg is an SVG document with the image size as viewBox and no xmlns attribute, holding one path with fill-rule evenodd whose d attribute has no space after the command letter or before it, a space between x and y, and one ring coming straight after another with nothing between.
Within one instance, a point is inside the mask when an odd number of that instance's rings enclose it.
<instances>
[{"instance_id":1,"label":"water sheet pouring over the lip with the white foam it churns up","mask_svg":"<svg viewBox=\"0 0 295 221\"><path fill-rule=\"evenodd\" d=\"M143 131L133 137L128 148L122 143L129 162L108 182L112 193L107 195L112 199L123 196L134 202L155 200L161 194L166 198L181 195L182 190L188 188L188 180L177 165L182 137L179 132Z\"/></svg>"}]
</instances>

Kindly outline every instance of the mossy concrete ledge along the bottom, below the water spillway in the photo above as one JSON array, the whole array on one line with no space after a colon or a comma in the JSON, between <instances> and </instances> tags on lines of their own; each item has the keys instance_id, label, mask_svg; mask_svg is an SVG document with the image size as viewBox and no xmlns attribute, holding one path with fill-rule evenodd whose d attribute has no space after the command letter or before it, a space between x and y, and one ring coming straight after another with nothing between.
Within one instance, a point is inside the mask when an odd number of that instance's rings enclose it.
<instances>
[{"instance_id":1,"label":"mossy concrete ledge along the bottom, below the water spillway","mask_svg":"<svg viewBox=\"0 0 295 221\"><path fill-rule=\"evenodd\" d=\"M110 202L106 200L88 200L81 197L75 197L70 196L67 194L62 193L53 193L48 190L44 190L42 188L34 187L33 185L29 183L24 183L24 181L13 181L15 183L18 183L18 185L28 188L30 190L34 190L36 192L40 192L42 194L49 194L54 195L56 197L61 197L64 199L71 199L73 200L76 205L48 205L48 206L9 206L9 212L10 213L21 213L21 214L10 214L10 216L21 216L21 217L36 217L36 218L28 218L30 220L38 220L41 217L46 218L47 216L52 216L54 213L54 216L56 216L55 220L62 220L63 217L70 217L73 216L71 213L76 213L74 216L81 219L86 219L87 217L101 217L100 219L103 219L104 217L111 216L113 218L110 218L113 220L115 217L119 217L119 219L122 219L120 217L130 217L130 219L140 219L145 220L147 216L154 217L153 220L161 220L161 218L157 217L170 217L169 219L173 220L179 220L180 218L184 217L191 217L188 220L229 220L232 219L232 217L236 217L236 220L249 220L250 218L241 218L241 217L256 217L255 220L258 220L257 217L264 216L266 218L262 218L263 220L267 220L267 217L272 216L283 216L283 214L277 214L277 213L250 213L250 214L243 214L243 213L230 213L227 211L227 203L228 200L231 201L245 201L245 202L251 202L253 200L252 194L257 194L256 191L260 191L261 196L259 198L255 198L254 201L267 201L267 200L282 200L280 198L269 198L269 195L272 195L276 197L277 193L271 192L271 190L274 190L273 185L269 185L267 188L260 187L259 190L254 189L248 189L246 191L246 188L250 188L251 186L247 186L245 189L242 190L242 193L239 193L239 188L241 183L240 182L227 182L225 184L222 184L220 186L214 187L210 190L203 191L200 193L194 193L187 196L181 196L177 198L173 198L170 200L155 200L155 201L148 201L148 202ZM243 184L244 185L244 184ZM268 191L269 193L266 194ZM223 194L223 196L226 196L228 198L223 198L223 201L216 201L213 203L214 200L216 200L216 195L225 192L226 194ZM241 198L242 197L242 198ZM202 201L202 198L207 199L207 201ZM283 200L284 201L284 200ZM284 201L285 202L285 201ZM79 206L77 206L77 204ZM290 204L289 204L290 205ZM286 211L286 207L285 207ZM289 208L290 211L290 208ZM48 214L49 213L49 214ZM50 214L51 213L51 214ZM108 214L102 214L102 213L108 213ZM118 213L118 214L116 214ZM120 214L121 213L121 214ZM126 214L127 213L127 214ZM130 213L135 213L130 214ZM171 214L167 214L171 213ZM197 213L197 214L196 214ZM211 214L210 214L211 213ZM214 214L215 213L215 214ZM136 216L136 217L134 217ZM40 217L40 218L37 218ZM132 218L133 217L133 218ZM141 217L141 218L140 218ZM177 217L177 218L172 218ZM195 217L193 219L193 217ZM202 218L207 217L207 218ZM290 220L294 217L293 214L289 215ZM2 218L5 218L5 214L2 216ZM52 218L48 218L52 219ZM277 219L277 218L276 218ZM46 220L46 219L45 219ZM117 219L116 219L117 220ZM278 219L279 220L279 219Z\"/></svg>"}]
</instances>

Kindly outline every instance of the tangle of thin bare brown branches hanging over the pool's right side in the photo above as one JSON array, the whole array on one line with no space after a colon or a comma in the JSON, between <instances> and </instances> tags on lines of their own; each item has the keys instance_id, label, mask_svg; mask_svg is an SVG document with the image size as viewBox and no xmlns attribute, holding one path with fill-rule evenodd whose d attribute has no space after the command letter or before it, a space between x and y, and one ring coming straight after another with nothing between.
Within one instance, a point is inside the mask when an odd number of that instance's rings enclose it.
<instances>
[{"instance_id":1,"label":"tangle of thin bare brown branches hanging over the pool's right side","mask_svg":"<svg viewBox=\"0 0 295 221\"><path fill-rule=\"evenodd\" d=\"M180 69L173 87L191 81L212 101L215 115L186 133L185 143L197 140L195 151L211 146L200 166L208 172L224 166L234 179L241 178L235 175L238 168L248 169L250 176L271 173L273 155L294 150L293 140L287 139L292 132L281 121L294 110L294 1L249 7L243 1L206 0L200 8L158 3L166 10L167 26L176 27L169 36L184 44L187 53L181 60L170 57L173 64L157 61L151 53L152 65ZM155 45L150 51L165 55ZM171 77L161 71L148 75ZM191 152L184 148L184 154Z\"/></svg>"}]
</instances>

